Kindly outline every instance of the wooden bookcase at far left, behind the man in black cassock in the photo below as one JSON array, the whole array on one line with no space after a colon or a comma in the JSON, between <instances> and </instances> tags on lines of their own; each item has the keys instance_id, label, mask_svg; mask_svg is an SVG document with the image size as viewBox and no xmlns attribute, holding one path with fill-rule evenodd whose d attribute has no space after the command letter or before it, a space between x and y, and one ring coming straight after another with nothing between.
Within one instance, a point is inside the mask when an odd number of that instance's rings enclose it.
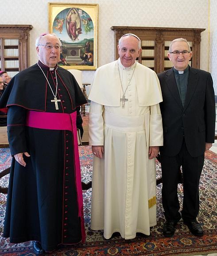
<instances>
[{"instance_id":1,"label":"wooden bookcase at far left, behind the man in black cassock","mask_svg":"<svg viewBox=\"0 0 217 256\"><path fill-rule=\"evenodd\" d=\"M0 70L10 77L29 66L32 25L0 25Z\"/></svg>"}]
</instances>

